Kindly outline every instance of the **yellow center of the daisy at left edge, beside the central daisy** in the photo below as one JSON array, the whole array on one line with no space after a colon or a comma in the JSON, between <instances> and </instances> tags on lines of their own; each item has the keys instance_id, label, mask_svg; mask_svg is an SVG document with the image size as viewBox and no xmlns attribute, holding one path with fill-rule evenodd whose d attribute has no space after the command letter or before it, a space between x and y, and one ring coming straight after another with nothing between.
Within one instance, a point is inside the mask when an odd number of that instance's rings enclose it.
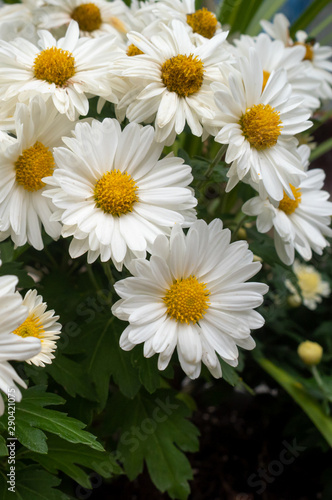
<instances>
[{"instance_id":1,"label":"yellow center of the daisy at left edge, beside the central daisy","mask_svg":"<svg viewBox=\"0 0 332 500\"><path fill-rule=\"evenodd\" d=\"M55 169L51 151L41 142L25 149L15 162L16 182L27 191L38 191L45 183L43 177L49 177Z\"/></svg>"}]
</instances>

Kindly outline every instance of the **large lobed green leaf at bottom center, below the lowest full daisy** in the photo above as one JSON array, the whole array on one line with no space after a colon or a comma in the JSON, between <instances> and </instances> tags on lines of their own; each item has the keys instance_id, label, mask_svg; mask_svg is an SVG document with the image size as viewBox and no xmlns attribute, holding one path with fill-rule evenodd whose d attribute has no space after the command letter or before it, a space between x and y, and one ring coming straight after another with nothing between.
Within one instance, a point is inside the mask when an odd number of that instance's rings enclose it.
<instances>
[{"instance_id":1,"label":"large lobed green leaf at bottom center, below the lowest full daisy","mask_svg":"<svg viewBox=\"0 0 332 500\"><path fill-rule=\"evenodd\" d=\"M153 396L142 391L133 401L118 393L111 407L116 408L116 414L110 426L122 430L118 451L129 478L133 480L142 472L145 461L160 491L185 500L192 471L182 451L198 449L198 430L187 420L191 413L188 407L174 391L164 389Z\"/></svg>"}]
</instances>

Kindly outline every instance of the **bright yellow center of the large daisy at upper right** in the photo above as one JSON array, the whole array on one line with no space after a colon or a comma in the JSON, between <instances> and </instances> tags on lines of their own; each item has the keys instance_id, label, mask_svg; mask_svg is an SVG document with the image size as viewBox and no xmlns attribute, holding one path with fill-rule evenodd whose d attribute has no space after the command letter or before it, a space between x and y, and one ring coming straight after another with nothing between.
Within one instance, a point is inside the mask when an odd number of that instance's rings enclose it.
<instances>
[{"instance_id":1,"label":"bright yellow center of the large daisy at upper right","mask_svg":"<svg viewBox=\"0 0 332 500\"><path fill-rule=\"evenodd\" d=\"M240 118L244 137L260 150L275 146L282 129L280 112L269 104L255 104Z\"/></svg>"}]
</instances>

